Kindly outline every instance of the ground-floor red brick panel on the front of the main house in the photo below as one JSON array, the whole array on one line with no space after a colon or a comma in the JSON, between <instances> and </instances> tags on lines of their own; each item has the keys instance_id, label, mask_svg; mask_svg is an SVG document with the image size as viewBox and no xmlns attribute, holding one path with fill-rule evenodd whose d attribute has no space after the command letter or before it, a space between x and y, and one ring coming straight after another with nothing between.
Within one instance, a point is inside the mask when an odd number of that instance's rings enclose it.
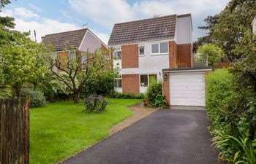
<instances>
[{"instance_id":1,"label":"ground-floor red brick panel on the front of the main house","mask_svg":"<svg viewBox=\"0 0 256 164\"><path fill-rule=\"evenodd\" d=\"M123 93L140 93L139 74L123 74L122 87Z\"/></svg>"}]
</instances>

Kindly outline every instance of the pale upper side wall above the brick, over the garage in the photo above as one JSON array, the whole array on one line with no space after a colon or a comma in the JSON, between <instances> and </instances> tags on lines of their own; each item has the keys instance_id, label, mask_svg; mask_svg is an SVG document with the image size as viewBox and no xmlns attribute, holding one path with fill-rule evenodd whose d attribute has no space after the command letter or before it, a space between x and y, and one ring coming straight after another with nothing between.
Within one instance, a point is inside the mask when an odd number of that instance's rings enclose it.
<instances>
[{"instance_id":1,"label":"pale upper side wall above the brick, over the garage","mask_svg":"<svg viewBox=\"0 0 256 164\"><path fill-rule=\"evenodd\" d=\"M176 19L176 44L192 43L192 22L191 17L177 17Z\"/></svg>"}]
</instances>

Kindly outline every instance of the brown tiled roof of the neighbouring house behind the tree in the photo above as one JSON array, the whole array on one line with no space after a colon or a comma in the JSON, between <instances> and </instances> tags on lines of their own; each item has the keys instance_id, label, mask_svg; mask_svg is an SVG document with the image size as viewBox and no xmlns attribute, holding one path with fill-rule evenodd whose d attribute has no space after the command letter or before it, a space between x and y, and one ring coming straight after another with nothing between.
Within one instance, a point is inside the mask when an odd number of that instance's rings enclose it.
<instances>
[{"instance_id":1,"label":"brown tiled roof of the neighbouring house behind the tree","mask_svg":"<svg viewBox=\"0 0 256 164\"><path fill-rule=\"evenodd\" d=\"M44 42L46 46L53 44L56 51L64 50L64 48L69 49L71 47L78 48L83 41L83 36L86 34L86 31L88 31L87 28L75 31L65 31L56 34L48 34L42 36L42 42Z\"/></svg>"}]
</instances>

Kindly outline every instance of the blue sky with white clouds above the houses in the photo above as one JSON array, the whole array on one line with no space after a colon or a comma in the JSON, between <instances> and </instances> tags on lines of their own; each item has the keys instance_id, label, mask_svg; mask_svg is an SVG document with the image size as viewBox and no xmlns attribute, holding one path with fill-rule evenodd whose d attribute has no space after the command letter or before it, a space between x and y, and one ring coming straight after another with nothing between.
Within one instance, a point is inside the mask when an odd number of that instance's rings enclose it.
<instances>
[{"instance_id":1,"label":"blue sky with white clouds above the houses","mask_svg":"<svg viewBox=\"0 0 256 164\"><path fill-rule=\"evenodd\" d=\"M36 31L41 36L89 28L108 44L115 23L154 15L192 14L193 40L206 34L198 29L204 18L225 8L229 0L11 0L1 16L15 17L15 29ZM34 39L34 34L31 35Z\"/></svg>"}]
</instances>

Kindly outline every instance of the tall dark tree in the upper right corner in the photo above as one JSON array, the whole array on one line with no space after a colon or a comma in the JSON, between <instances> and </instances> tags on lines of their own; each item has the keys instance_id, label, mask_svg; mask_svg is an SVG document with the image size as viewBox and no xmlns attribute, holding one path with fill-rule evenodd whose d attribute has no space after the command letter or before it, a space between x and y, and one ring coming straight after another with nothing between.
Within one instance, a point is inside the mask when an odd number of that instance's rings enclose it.
<instances>
[{"instance_id":1,"label":"tall dark tree in the upper right corner","mask_svg":"<svg viewBox=\"0 0 256 164\"><path fill-rule=\"evenodd\" d=\"M209 30L208 40L223 47L230 61L241 58L233 50L236 44L249 29L256 15L255 0L231 0L219 15L206 18L206 26L201 29ZM200 39L199 39L200 41Z\"/></svg>"}]
</instances>

